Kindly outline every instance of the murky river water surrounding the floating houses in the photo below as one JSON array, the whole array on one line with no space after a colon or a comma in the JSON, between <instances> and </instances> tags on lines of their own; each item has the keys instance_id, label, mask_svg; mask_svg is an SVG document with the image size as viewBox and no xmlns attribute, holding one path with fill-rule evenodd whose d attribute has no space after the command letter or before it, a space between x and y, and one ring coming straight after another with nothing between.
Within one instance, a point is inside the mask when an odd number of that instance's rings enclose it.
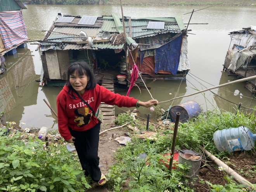
<instances>
[{"instance_id":1,"label":"murky river water surrounding the floating houses","mask_svg":"<svg viewBox=\"0 0 256 192\"><path fill-rule=\"evenodd\" d=\"M30 40L42 39L45 33L43 31L48 30L58 13L81 16L118 13L121 16L121 8L116 5L26 5L26 7L28 9L22 10L22 14ZM151 87L149 91L154 99L167 101L237 79L235 76L228 76L222 70L230 44L228 33L241 30L242 27L256 26L256 20L253 19L256 8L253 6L214 6L203 9L205 7L207 6L123 6L125 16L174 17L181 15L185 24L189 22L191 15L186 13L192 12L193 9L199 10L192 15L188 27L192 31L189 32L191 34L188 38L191 70L187 75L187 81L148 81L148 86ZM7 72L0 75L0 111L6 111L4 121L14 121L20 126L21 122L25 122L26 127L45 126L55 129L57 118L43 99L46 99L52 109L57 112L56 97L61 87L42 87L40 83L34 81L40 78L42 67L39 53L35 51L36 47L37 45L29 44L27 48L17 49L17 57L5 56ZM214 108L229 111L236 109L238 103L253 108L256 106L256 99L252 98L252 94L244 87L245 84L245 82L233 84L221 87L221 89L213 89L212 92L207 91L159 105L166 110L170 105L174 106L193 100L201 106L203 111ZM126 94L125 91L116 93ZM139 90L137 87L131 90L130 96L142 101L151 99L146 89ZM247 108L241 108L248 113L251 112ZM127 109L116 107L116 113ZM139 111L142 117L150 113L148 108L140 107ZM153 118L155 114L151 114Z\"/></svg>"}]
</instances>

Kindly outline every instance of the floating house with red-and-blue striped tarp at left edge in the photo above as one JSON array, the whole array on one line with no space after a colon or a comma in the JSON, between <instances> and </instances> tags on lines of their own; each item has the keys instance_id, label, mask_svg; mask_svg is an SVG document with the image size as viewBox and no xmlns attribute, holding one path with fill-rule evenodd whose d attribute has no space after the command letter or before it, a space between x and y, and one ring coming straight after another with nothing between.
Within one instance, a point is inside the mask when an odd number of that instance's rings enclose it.
<instances>
[{"instance_id":1,"label":"floating house with red-and-blue striped tarp at left edge","mask_svg":"<svg viewBox=\"0 0 256 192\"><path fill-rule=\"evenodd\" d=\"M18 46L26 46L28 36L22 9L27 8L20 0L0 0L0 67L5 61L3 55L14 55Z\"/></svg>"}]
</instances>

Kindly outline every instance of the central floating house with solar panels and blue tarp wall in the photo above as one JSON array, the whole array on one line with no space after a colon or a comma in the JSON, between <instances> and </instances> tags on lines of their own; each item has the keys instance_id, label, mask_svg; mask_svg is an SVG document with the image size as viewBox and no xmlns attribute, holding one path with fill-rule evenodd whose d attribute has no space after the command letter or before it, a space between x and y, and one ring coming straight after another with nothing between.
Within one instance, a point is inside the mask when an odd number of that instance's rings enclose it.
<instances>
[{"instance_id":1,"label":"central floating house with solar panels and blue tarp wall","mask_svg":"<svg viewBox=\"0 0 256 192\"><path fill-rule=\"evenodd\" d=\"M70 63L84 60L95 72L118 71L128 79L136 64L145 79L185 80L190 65L182 17L124 17L124 25L126 38L118 14L58 14L38 45L42 79L66 80Z\"/></svg>"}]
</instances>

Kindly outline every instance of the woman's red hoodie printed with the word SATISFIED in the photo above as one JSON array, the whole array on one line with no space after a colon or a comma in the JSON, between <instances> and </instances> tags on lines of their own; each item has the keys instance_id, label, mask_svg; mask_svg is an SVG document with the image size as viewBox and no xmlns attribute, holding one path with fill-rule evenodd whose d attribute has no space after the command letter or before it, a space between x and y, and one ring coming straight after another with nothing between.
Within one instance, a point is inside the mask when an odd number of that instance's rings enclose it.
<instances>
[{"instance_id":1,"label":"woman's red hoodie printed with the word SATISFIED","mask_svg":"<svg viewBox=\"0 0 256 192\"><path fill-rule=\"evenodd\" d=\"M76 93L72 94L70 91L68 94L68 90L69 87L64 86L57 96L58 128L65 140L71 139L68 127L76 131L85 131L99 123L92 110L81 101ZM98 84L95 88L86 90L81 97L95 112L101 102L119 107L134 107L138 101L138 99L112 93Z\"/></svg>"}]
</instances>

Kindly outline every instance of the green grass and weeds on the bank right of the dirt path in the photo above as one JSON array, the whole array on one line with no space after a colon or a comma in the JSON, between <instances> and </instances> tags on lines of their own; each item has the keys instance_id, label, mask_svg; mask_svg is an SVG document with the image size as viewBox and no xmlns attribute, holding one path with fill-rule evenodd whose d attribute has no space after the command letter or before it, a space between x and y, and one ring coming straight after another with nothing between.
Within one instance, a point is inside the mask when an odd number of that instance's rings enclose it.
<instances>
[{"instance_id":1,"label":"green grass and weeds on the bank right of the dirt path","mask_svg":"<svg viewBox=\"0 0 256 192\"><path fill-rule=\"evenodd\" d=\"M120 115L117 118L117 122L119 118L122 122L129 121L125 120L126 117L130 116L127 113ZM243 114L239 112L235 115L228 111L218 110L201 113L194 121L180 123L175 148L180 150L189 149L201 153L198 146L202 145L218 158L226 159L230 153L220 153L216 149L213 142L213 134L216 130L242 125L251 128L255 132L255 113ZM153 129L156 129L156 127ZM193 186L190 185L191 181L184 177L184 173L190 168L189 166L178 164L179 168L170 172L163 164L159 163L159 159L163 158L162 154L170 153L173 136L171 129L159 130L159 133L160 131L161 135L158 134L157 139L154 141L132 137L132 141L127 146L118 149L115 156L116 163L107 174L107 185L110 189L115 192L123 191L123 185L126 183L131 192L194 191ZM142 153L147 154L147 158L138 158ZM254 150L249 153L255 155ZM149 162L149 165L146 164L147 162ZM243 188L246 189L245 185L238 185L232 180L232 177L224 175L223 179L227 180L228 183L225 186L213 185L202 179L200 184L208 186L210 192L242 192ZM194 183L194 187L197 185L199 184ZM128 190L124 191L128 192Z\"/></svg>"}]
</instances>

